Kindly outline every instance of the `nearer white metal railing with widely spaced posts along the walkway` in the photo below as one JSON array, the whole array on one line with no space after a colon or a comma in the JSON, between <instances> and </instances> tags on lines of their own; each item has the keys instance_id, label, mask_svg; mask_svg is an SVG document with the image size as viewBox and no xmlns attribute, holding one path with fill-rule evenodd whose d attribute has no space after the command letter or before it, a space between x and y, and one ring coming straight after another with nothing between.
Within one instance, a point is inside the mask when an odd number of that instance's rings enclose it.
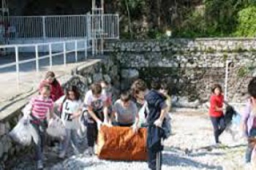
<instances>
[{"instance_id":1,"label":"nearer white metal railing with widely spaced posts along the walkway","mask_svg":"<svg viewBox=\"0 0 256 170\"><path fill-rule=\"evenodd\" d=\"M83 52L85 59L88 56L88 51L91 49L89 45L88 39L75 39L69 41L62 41L62 42L48 42L48 43L38 43L38 44L24 44L24 45L0 45L0 50L5 51L7 53L15 53L15 62L6 63L0 65L1 69L7 69L10 67L15 66L16 72L16 85L19 87L20 84L20 64L23 63L31 63L35 61L36 65L36 72L39 72L39 61L45 58L49 58L49 69L52 69L53 66L53 58L57 55L63 55L63 64L67 66L67 54L74 53L75 62L78 62L78 52ZM53 53L54 45L61 45L62 50L58 48L58 52ZM69 49L67 46L69 45ZM39 47L48 47L48 55L39 56ZM26 60L20 60L19 58L19 50L24 47L33 47L34 48L34 57L29 58ZM14 49L14 51L13 51ZM7 55L8 56L8 55Z\"/></svg>"}]
</instances>

